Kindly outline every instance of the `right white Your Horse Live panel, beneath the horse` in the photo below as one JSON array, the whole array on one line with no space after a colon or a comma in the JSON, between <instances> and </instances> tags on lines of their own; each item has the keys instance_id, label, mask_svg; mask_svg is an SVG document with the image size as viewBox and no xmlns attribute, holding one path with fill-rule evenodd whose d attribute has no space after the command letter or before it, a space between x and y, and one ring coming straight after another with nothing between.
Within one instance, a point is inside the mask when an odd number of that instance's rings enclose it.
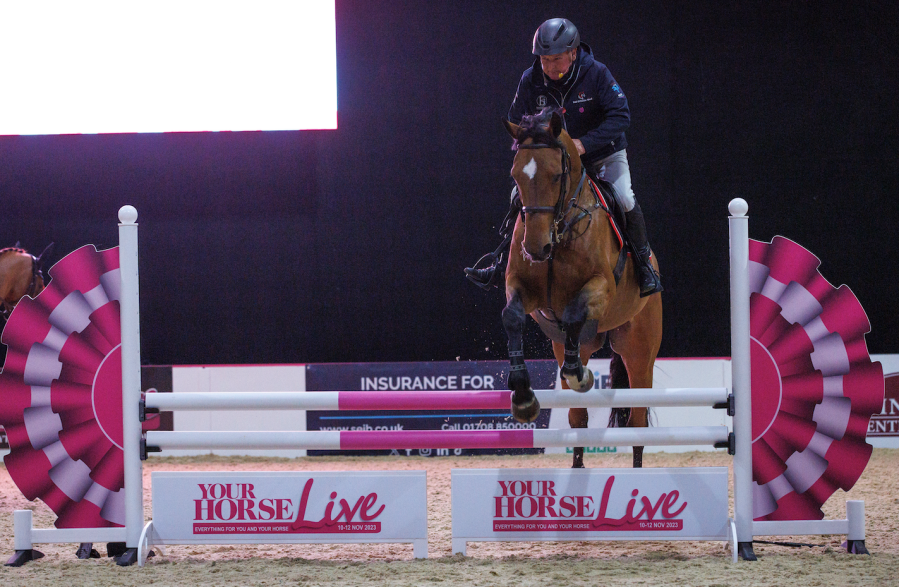
<instances>
[{"instance_id":1,"label":"right white Your Horse Live panel, beneath the horse","mask_svg":"<svg viewBox=\"0 0 899 587\"><path fill-rule=\"evenodd\" d=\"M727 467L453 469L453 543L727 540L727 478Z\"/></svg>"}]
</instances>

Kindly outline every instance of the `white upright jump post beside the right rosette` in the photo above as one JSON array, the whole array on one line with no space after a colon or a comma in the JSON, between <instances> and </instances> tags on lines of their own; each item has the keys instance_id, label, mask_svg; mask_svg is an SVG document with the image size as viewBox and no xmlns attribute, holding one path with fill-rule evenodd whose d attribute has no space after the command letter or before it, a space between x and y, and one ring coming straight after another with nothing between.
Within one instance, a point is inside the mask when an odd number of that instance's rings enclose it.
<instances>
[{"instance_id":1,"label":"white upright jump post beside the right rosette","mask_svg":"<svg viewBox=\"0 0 899 587\"><path fill-rule=\"evenodd\" d=\"M749 205L731 200L730 211L730 348L734 394L734 517L740 555L752 552L752 382L749 343Z\"/></svg>"}]
</instances>

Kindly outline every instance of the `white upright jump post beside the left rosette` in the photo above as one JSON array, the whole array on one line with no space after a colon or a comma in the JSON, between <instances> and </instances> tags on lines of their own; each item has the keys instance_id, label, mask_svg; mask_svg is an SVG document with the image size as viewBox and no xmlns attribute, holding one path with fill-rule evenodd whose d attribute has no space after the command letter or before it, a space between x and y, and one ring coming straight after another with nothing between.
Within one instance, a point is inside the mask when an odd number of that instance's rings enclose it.
<instances>
[{"instance_id":1,"label":"white upright jump post beside the left rosette","mask_svg":"<svg viewBox=\"0 0 899 587\"><path fill-rule=\"evenodd\" d=\"M125 453L125 547L122 566L137 562L137 547L144 525L144 487L140 462L140 297L137 264L137 210L119 210L119 299L122 322L122 418Z\"/></svg>"}]
</instances>

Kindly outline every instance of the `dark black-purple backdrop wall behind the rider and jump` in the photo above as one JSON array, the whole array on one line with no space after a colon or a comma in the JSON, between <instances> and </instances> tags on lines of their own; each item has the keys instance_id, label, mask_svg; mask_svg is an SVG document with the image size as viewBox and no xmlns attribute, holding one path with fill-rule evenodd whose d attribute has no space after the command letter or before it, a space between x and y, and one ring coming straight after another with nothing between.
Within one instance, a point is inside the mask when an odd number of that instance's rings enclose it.
<instances>
[{"instance_id":1,"label":"dark black-purple backdrop wall behind the rider and jump","mask_svg":"<svg viewBox=\"0 0 899 587\"><path fill-rule=\"evenodd\" d=\"M533 31L567 16L630 103L661 356L729 354L737 196L752 238L815 253L867 310L871 352L899 352L896 4L626 8L338 0L338 130L0 137L0 246L114 246L136 206L147 363L503 358L502 295L462 268L497 244L500 119Z\"/></svg>"}]
</instances>

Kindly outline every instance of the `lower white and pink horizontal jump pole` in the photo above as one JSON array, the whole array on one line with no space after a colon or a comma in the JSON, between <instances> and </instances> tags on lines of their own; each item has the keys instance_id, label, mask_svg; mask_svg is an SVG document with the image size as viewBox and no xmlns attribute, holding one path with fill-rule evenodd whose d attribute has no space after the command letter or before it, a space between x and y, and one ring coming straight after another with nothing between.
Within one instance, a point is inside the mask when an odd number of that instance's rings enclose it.
<instances>
[{"instance_id":1,"label":"lower white and pink horizontal jump pole","mask_svg":"<svg viewBox=\"0 0 899 587\"><path fill-rule=\"evenodd\" d=\"M306 432L149 431L146 451L165 449L392 450L566 446L728 446L727 426L516 430L364 430Z\"/></svg>"}]
</instances>

